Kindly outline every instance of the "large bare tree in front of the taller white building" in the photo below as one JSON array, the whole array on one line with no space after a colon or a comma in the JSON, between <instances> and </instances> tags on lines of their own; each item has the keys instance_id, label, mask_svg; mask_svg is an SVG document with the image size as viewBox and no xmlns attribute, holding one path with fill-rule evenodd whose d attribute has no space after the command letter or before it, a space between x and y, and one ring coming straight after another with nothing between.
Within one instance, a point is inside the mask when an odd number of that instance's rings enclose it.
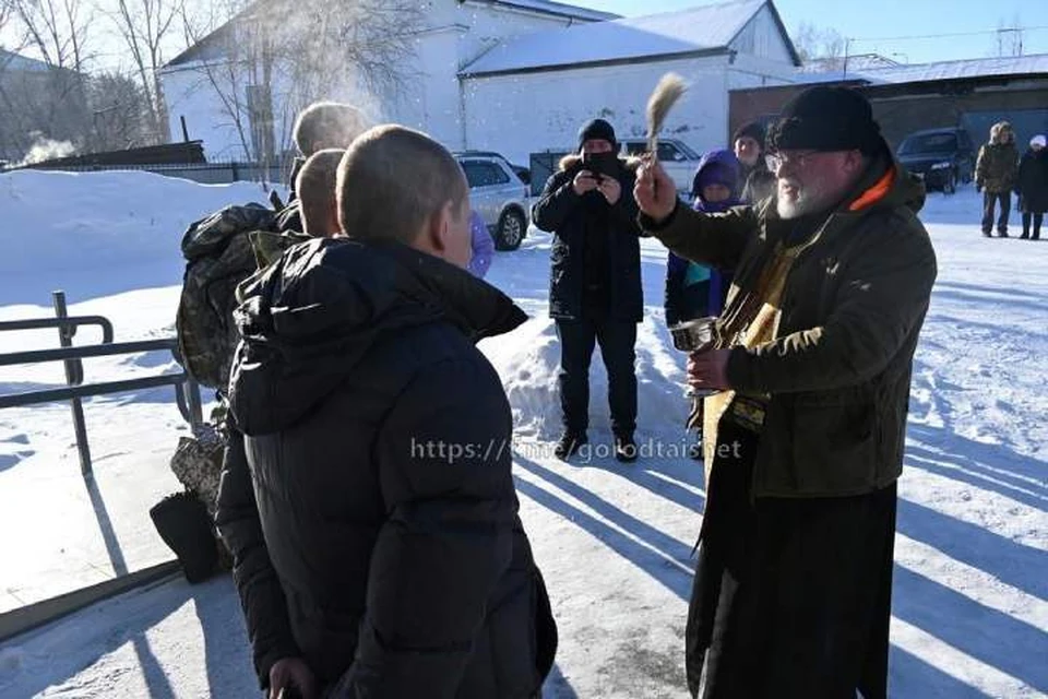
<instances>
[{"instance_id":1,"label":"large bare tree in front of the taller white building","mask_svg":"<svg viewBox=\"0 0 1048 699\"><path fill-rule=\"evenodd\" d=\"M199 60L198 71L245 153L269 159L287 150L294 117L311 102L404 94L424 19L412 0L276 0L210 34L186 25L191 44L211 44L216 58Z\"/></svg>"}]
</instances>

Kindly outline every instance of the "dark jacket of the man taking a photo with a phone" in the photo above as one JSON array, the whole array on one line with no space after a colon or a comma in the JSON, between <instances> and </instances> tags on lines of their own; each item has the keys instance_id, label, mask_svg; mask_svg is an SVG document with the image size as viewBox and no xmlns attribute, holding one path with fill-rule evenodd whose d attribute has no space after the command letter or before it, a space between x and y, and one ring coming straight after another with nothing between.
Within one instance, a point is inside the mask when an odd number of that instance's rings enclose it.
<instances>
[{"instance_id":1,"label":"dark jacket of the man taking a photo with a phone","mask_svg":"<svg viewBox=\"0 0 1048 699\"><path fill-rule=\"evenodd\" d=\"M568 155L560 170L546 182L541 198L532 208L532 221L555 234L550 250L549 315L558 320L583 317L584 287L599 275L608 285L608 308L615 320L641 322L644 296L641 288L643 235L636 225L633 200L635 163L619 161L616 179L622 194L614 206L599 192L575 193L572 181L583 169L582 157ZM607 246L607 270L587 269L587 246Z\"/></svg>"}]
</instances>

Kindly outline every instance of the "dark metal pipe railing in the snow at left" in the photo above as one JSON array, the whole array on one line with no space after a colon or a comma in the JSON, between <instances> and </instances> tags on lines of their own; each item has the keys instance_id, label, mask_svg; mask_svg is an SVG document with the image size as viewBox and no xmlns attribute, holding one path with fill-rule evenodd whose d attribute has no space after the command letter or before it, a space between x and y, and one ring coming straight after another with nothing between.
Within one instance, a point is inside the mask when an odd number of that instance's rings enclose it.
<instances>
[{"instance_id":1,"label":"dark metal pipe railing in the snow at left","mask_svg":"<svg viewBox=\"0 0 1048 699\"><path fill-rule=\"evenodd\" d=\"M0 395L0 408L70 401L73 415L73 429L76 433L76 449L80 453L80 470L85 476L92 473L91 448L87 443L87 425L84 420L82 403L82 400L85 398L172 386L175 387L175 400L182 418L190 424L194 431L203 424L200 387L184 370L141 379L86 384L83 382L84 367L82 359L88 357L167 350L177 360L178 341L175 337L115 343L112 342L112 323L109 322L107 318L103 316L67 315L66 294L63 292L55 292L52 294L52 300L55 305L55 318L2 321L0 322L0 331L57 328L61 347L57 350L33 350L0 354L0 366L62 362L66 366L67 386L66 388L59 389L40 389ZM103 336L100 344L73 346L73 336L76 334L76 330L84 325L98 325L102 328Z\"/></svg>"}]
</instances>

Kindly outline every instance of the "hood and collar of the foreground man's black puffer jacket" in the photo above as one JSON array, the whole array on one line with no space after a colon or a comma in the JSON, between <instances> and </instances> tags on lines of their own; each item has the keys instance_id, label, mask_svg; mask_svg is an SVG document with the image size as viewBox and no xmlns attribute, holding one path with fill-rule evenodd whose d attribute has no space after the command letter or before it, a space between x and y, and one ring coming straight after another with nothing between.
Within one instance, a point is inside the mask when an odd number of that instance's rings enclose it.
<instances>
[{"instance_id":1,"label":"hood and collar of the foreground man's black puffer jacket","mask_svg":"<svg viewBox=\"0 0 1048 699\"><path fill-rule=\"evenodd\" d=\"M290 248L242 293L229 401L248 435L296 423L392 333L446 322L476 342L527 319L505 294L439 258L350 238Z\"/></svg>"}]
</instances>

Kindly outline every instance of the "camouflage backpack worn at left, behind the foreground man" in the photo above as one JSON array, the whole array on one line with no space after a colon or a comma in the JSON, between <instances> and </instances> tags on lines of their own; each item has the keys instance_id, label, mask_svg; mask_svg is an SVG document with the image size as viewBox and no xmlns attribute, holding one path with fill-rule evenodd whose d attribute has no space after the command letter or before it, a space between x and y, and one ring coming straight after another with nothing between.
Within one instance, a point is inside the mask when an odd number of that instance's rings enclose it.
<instances>
[{"instance_id":1,"label":"camouflage backpack worn at left, behind the foreground man","mask_svg":"<svg viewBox=\"0 0 1048 699\"><path fill-rule=\"evenodd\" d=\"M233 320L236 289L306 237L281 234L279 214L261 204L226 206L182 236L186 274L175 330L181 364L201 386L225 391L240 333Z\"/></svg>"}]
</instances>

